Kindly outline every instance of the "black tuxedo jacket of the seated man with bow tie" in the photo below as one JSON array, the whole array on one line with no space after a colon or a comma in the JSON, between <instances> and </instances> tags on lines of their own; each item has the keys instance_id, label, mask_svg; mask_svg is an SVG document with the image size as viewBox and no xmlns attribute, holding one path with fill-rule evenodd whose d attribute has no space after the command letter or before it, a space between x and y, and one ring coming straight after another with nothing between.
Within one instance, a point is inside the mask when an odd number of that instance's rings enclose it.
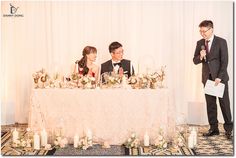
<instances>
[{"instance_id":1,"label":"black tuxedo jacket of the seated man with bow tie","mask_svg":"<svg viewBox=\"0 0 236 158\"><path fill-rule=\"evenodd\" d=\"M124 74L127 74L128 77L131 76L131 72L130 72L130 60L126 60L126 59L122 59L121 61L121 67L123 68ZM113 65L112 65L112 61L108 60L105 63L103 63L101 65L101 74L103 74L104 72L112 72L113 71ZM132 67L132 75L134 74L134 68Z\"/></svg>"}]
</instances>

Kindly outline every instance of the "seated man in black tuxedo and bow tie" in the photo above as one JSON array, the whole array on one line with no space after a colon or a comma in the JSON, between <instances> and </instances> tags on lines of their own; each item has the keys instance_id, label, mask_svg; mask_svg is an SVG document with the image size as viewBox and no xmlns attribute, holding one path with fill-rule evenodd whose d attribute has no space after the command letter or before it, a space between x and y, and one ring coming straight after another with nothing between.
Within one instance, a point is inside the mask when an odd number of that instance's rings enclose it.
<instances>
[{"instance_id":1,"label":"seated man in black tuxedo and bow tie","mask_svg":"<svg viewBox=\"0 0 236 158\"><path fill-rule=\"evenodd\" d=\"M128 77L130 77L134 74L133 66L132 71L130 70L131 61L123 59L124 50L122 48L122 44L120 44L119 42L112 42L109 45L109 52L111 54L111 60L102 63L101 75L105 72L115 72L121 75L127 74Z\"/></svg>"}]
</instances>

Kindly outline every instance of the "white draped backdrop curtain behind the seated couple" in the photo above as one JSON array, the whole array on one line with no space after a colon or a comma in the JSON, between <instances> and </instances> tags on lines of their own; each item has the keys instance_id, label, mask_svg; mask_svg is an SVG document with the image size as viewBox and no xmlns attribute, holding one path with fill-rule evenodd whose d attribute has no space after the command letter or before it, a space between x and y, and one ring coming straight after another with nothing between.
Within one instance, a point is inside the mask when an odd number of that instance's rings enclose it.
<instances>
[{"instance_id":1,"label":"white draped backdrop curtain behind the seated couple","mask_svg":"<svg viewBox=\"0 0 236 158\"><path fill-rule=\"evenodd\" d=\"M3 16L10 14L10 3L23 17ZM98 49L100 65L110 59L113 41L123 44L124 57L136 72L138 65L140 72L166 65L176 114L188 123L207 124L201 65L192 62L201 38L198 24L205 19L228 42L233 107L231 1L14 1L1 2L1 13L1 124L27 122L32 73L44 67L49 73L69 74L86 45Z\"/></svg>"}]
</instances>

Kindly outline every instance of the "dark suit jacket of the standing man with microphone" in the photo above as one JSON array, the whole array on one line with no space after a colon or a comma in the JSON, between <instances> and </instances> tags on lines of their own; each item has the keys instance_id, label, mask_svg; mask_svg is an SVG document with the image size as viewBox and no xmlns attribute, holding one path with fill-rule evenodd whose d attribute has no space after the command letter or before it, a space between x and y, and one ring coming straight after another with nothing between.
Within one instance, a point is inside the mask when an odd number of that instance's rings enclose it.
<instances>
[{"instance_id":1,"label":"dark suit jacket of the standing man with microphone","mask_svg":"<svg viewBox=\"0 0 236 158\"><path fill-rule=\"evenodd\" d=\"M205 85L209 75L212 80L220 78L221 82L226 83L229 80L227 73L228 66L228 48L226 40L214 36L210 52L206 55L206 61L200 60L201 47L205 46L205 40L201 39L197 42L193 62L194 64L202 63L202 83Z\"/></svg>"}]
</instances>

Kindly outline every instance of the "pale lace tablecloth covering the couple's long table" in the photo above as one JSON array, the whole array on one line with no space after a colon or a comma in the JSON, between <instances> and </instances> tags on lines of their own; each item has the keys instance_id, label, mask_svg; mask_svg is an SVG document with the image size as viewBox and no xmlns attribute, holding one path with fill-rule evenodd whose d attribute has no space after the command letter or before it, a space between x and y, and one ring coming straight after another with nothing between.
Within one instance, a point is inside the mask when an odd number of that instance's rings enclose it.
<instances>
[{"instance_id":1,"label":"pale lace tablecloth covering the couple's long table","mask_svg":"<svg viewBox=\"0 0 236 158\"><path fill-rule=\"evenodd\" d=\"M95 141L122 144L135 132L151 143L160 128L171 138L174 100L168 89L33 89L29 126L51 135L62 130L69 142L91 130Z\"/></svg>"}]
</instances>

